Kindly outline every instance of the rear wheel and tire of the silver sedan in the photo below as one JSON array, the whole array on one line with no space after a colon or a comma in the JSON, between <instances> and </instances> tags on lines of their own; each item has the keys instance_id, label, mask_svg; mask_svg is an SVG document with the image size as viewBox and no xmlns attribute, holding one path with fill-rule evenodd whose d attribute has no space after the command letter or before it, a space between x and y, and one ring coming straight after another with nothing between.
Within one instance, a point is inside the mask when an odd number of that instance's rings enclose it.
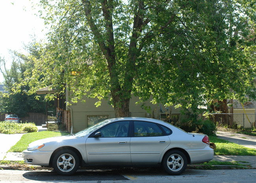
<instances>
[{"instance_id":1,"label":"rear wheel and tire of the silver sedan","mask_svg":"<svg viewBox=\"0 0 256 183\"><path fill-rule=\"evenodd\" d=\"M177 176L186 170L187 158L180 150L171 150L163 157L162 166L168 174Z\"/></svg>"}]
</instances>

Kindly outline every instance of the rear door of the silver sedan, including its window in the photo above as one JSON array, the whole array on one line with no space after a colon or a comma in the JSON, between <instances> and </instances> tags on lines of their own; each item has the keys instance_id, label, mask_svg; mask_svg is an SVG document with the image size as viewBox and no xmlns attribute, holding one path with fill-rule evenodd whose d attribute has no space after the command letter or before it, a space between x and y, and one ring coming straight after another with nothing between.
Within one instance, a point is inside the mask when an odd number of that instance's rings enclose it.
<instances>
[{"instance_id":1,"label":"rear door of the silver sedan, including its window","mask_svg":"<svg viewBox=\"0 0 256 183\"><path fill-rule=\"evenodd\" d=\"M162 152L171 143L159 125L147 121L134 121L131 137L131 160L133 164L157 164Z\"/></svg>"}]
</instances>

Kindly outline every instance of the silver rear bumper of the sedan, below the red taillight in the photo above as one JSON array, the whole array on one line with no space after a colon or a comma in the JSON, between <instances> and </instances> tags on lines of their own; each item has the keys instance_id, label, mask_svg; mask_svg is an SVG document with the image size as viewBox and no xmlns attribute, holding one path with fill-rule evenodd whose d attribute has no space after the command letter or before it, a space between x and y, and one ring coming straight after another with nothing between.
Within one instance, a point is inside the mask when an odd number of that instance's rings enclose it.
<instances>
[{"instance_id":1,"label":"silver rear bumper of the sedan, below the red taillight","mask_svg":"<svg viewBox=\"0 0 256 183\"><path fill-rule=\"evenodd\" d=\"M214 150L206 145L204 149L186 149L190 156L191 164L204 163L213 159Z\"/></svg>"}]
</instances>

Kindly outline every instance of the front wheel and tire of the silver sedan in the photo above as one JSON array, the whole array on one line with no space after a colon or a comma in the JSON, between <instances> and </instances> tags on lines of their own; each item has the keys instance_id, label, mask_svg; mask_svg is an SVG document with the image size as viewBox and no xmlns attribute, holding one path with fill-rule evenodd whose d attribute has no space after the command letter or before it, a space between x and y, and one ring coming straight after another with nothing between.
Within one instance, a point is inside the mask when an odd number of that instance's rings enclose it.
<instances>
[{"instance_id":1,"label":"front wheel and tire of the silver sedan","mask_svg":"<svg viewBox=\"0 0 256 183\"><path fill-rule=\"evenodd\" d=\"M73 150L63 149L54 155L52 167L59 175L72 175L79 167L79 157Z\"/></svg>"}]
</instances>

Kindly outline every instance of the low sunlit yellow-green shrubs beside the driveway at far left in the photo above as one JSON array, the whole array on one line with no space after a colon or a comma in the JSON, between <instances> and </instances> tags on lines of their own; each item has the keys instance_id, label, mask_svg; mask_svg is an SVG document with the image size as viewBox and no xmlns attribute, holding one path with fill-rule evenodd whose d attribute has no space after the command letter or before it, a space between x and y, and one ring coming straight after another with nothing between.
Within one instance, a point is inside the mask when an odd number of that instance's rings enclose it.
<instances>
[{"instance_id":1,"label":"low sunlit yellow-green shrubs beside the driveway at far left","mask_svg":"<svg viewBox=\"0 0 256 183\"><path fill-rule=\"evenodd\" d=\"M0 133L3 134L17 134L17 133L29 133L36 132L37 127L35 123L13 123L0 121Z\"/></svg>"}]
</instances>

